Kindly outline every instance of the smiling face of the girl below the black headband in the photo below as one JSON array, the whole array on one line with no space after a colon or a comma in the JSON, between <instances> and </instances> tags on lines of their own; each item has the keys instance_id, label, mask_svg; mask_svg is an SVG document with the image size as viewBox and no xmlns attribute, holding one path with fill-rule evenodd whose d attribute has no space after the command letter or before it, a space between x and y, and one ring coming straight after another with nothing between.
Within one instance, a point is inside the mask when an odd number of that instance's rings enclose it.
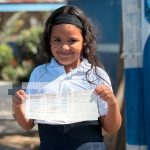
<instances>
[{"instance_id":1,"label":"smiling face of the girl below the black headband","mask_svg":"<svg viewBox=\"0 0 150 150\"><path fill-rule=\"evenodd\" d=\"M79 27L72 24L54 25L50 45L53 56L67 72L80 64L83 37Z\"/></svg>"}]
</instances>

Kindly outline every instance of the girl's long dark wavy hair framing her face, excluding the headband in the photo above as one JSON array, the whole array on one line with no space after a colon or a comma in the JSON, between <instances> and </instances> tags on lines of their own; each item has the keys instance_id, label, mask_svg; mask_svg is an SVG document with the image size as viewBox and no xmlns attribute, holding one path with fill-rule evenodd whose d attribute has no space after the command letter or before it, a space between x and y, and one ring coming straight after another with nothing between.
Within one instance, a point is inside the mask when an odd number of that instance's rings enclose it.
<instances>
[{"instance_id":1,"label":"girl's long dark wavy hair framing her face, excluding the headband","mask_svg":"<svg viewBox=\"0 0 150 150\"><path fill-rule=\"evenodd\" d=\"M83 40L85 43L82 48L81 54L82 54L82 57L86 58L88 62L91 64L91 68L86 73L86 77L93 67L95 68L95 73L97 74L96 66L103 68L103 65L98 60L97 53L96 53L97 44L96 44L95 30L94 30L92 23L88 19L88 17L77 6L73 6L73 5L62 6L56 9L47 19L45 23L43 36L41 39L41 48L42 48L42 55L44 54L44 60L46 60L46 62L49 62L51 61L53 57L51 53L51 47L50 47L49 41L51 37L52 27L55 25L54 20L60 14L72 14L81 21L83 25L83 28L81 29L82 36L83 36Z\"/></svg>"}]
</instances>

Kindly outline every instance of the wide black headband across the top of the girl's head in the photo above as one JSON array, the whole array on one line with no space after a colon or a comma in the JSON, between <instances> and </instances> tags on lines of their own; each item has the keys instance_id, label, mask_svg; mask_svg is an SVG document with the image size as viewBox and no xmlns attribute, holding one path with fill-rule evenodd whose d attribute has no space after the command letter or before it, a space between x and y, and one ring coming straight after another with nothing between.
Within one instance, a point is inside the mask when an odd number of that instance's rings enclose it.
<instances>
[{"instance_id":1,"label":"wide black headband across the top of the girl's head","mask_svg":"<svg viewBox=\"0 0 150 150\"><path fill-rule=\"evenodd\" d=\"M83 25L80 19L71 14L60 14L54 19L53 23L54 24L68 23L68 24L73 24L73 25L79 26L80 28L83 28Z\"/></svg>"}]
</instances>

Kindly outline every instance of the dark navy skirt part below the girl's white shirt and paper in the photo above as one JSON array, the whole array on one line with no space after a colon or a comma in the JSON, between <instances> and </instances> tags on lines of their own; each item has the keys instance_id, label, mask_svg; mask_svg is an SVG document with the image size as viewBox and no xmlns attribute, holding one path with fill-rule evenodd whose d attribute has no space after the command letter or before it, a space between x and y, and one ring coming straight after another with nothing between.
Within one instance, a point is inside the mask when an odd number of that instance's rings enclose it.
<instances>
[{"instance_id":1,"label":"dark navy skirt part below the girl's white shirt and paper","mask_svg":"<svg viewBox=\"0 0 150 150\"><path fill-rule=\"evenodd\" d=\"M85 143L103 142L100 124L38 124L38 128L40 150L76 150Z\"/></svg>"}]
</instances>

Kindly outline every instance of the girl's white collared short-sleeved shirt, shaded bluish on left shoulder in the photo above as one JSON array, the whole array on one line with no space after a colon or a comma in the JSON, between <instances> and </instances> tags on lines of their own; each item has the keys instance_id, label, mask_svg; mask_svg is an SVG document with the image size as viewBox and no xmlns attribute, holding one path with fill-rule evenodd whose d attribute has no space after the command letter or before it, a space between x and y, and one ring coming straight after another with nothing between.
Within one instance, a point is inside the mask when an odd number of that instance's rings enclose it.
<instances>
[{"instance_id":1,"label":"girl's white collared short-sleeved shirt, shaded bluish on left shoulder","mask_svg":"<svg viewBox=\"0 0 150 150\"><path fill-rule=\"evenodd\" d=\"M94 90L97 85L105 84L111 89L111 82L108 74L101 68L97 67L98 74L103 79L96 76L94 68L89 72L88 79L93 81L91 84L86 79L86 72L90 69L91 64L87 59L83 59L81 64L73 69L71 72L66 73L64 66L57 63L52 58L48 64L39 65L31 73L28 83L27 94L43 94L43 93L65 93L65 92L78 92L81 90ZM107 102L97 96L99 116L107 113ZM48 123L44 120L35 120L35 123Z\"/></svg>"}]
</instances>

